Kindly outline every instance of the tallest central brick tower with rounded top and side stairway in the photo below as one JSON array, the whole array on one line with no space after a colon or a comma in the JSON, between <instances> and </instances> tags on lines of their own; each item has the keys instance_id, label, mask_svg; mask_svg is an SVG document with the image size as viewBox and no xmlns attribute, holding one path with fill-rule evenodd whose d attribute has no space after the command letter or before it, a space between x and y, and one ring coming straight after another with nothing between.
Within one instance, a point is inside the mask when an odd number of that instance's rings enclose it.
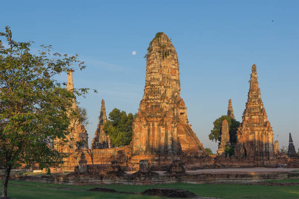
<instances>
[{"instance_id":1,"label":"tallest central brick tower with rounded top and side stairway","mask_svg":"<svg viewBox=\"0 0 299 199\"><path fill-rule=\"evenodd\" d=\"M171 40L157 33L149 43L144 95L133 122L133 155L205 153L180 98L179 64Z\"/></svg>"}]
</instances>

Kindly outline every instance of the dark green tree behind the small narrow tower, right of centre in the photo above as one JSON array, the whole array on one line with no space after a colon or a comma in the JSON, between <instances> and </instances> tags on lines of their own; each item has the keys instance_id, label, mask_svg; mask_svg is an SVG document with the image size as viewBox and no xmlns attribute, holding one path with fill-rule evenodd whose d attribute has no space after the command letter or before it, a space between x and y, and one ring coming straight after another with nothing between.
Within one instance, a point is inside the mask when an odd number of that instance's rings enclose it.
<instances>
[{"instance_id":1,"label":"dark green tree behind the small narrow tower, right of centre","mask_svg":"<svg viewBox=\"0 0 299 199\"><path fill-rule=\"evenodd\" d=\"M221 139L221 130L222 130L222 121L226 119L229 124L229 134L230 134L230 142L235 143L236 142L236 131L237 128L240 126L240 122L232 119L229 116L221 116L220 118L216 119L213 124L214 127L211 130L211 133L209 134L209 139L212 141L220 141Z\"/></svg>"}]
</instances>

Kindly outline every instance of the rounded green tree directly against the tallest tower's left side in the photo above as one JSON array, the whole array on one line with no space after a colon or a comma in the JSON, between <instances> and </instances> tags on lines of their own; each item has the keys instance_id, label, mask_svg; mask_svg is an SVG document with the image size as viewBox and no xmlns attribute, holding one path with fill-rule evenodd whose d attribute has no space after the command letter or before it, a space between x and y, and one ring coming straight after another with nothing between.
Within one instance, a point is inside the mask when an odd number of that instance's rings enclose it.
<instances>
[{"instance_id":1,"label":"rounded green tree directly against the tallest tower's left side","mask_svg":"<svg viewBox=\"0 0 299 199\"><path fill-rule=\"evenodd\" d=\"M128 145L132 140L132 123L136 114L126 114L114 108L109 113L109 120L104 124L104 131L109 135L114 146Z\"/></svg>"}]
</instances>

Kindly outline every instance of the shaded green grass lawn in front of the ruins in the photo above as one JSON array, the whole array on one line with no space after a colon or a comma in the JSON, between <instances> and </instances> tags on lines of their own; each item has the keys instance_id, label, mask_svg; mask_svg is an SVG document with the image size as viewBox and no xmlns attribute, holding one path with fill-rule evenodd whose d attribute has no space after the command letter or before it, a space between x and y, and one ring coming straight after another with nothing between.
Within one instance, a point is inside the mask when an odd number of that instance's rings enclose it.
<instances>
[{"instance_id":1,"label":"shaded green grass lawn in front of the ruins","mask_svg":"<svg viewBox=\"0 0 299 199\"><path fill-rule=\"evenodd\" d=\"M18 180L9 181L8 197L15 199L163 199L161 197L86 191L93 187L106 187L126 192L143 192L149 188L180 188L189 190L198 196L222 199L299 199L299 185L275 187L265 185L175 183L154 185L100 184L75 186ZM80 190L65 190L62 188L75 188Z\"/></svg>"}]
</instances>

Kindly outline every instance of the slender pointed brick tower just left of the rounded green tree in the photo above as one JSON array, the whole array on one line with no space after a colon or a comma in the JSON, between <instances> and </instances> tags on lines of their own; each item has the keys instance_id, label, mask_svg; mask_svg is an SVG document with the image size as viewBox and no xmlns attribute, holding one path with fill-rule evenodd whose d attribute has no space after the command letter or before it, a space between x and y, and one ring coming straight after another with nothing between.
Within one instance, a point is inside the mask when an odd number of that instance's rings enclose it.
<instances>
[{"instance_id":1,"label":"slender pointed brick tower just left of the rounded green tree","mask_svg":"<svg viewBox=\"0 0 299 199\"><path fill-rule=\"evenodd\" d=\"M103 130L104 127L103 125L106 121L107 121L107 116L106 116L105 101L102 99L98 126L91 143L92 149L111 148L110 137L106 135Z\"/></svg>"}]
</instances>

